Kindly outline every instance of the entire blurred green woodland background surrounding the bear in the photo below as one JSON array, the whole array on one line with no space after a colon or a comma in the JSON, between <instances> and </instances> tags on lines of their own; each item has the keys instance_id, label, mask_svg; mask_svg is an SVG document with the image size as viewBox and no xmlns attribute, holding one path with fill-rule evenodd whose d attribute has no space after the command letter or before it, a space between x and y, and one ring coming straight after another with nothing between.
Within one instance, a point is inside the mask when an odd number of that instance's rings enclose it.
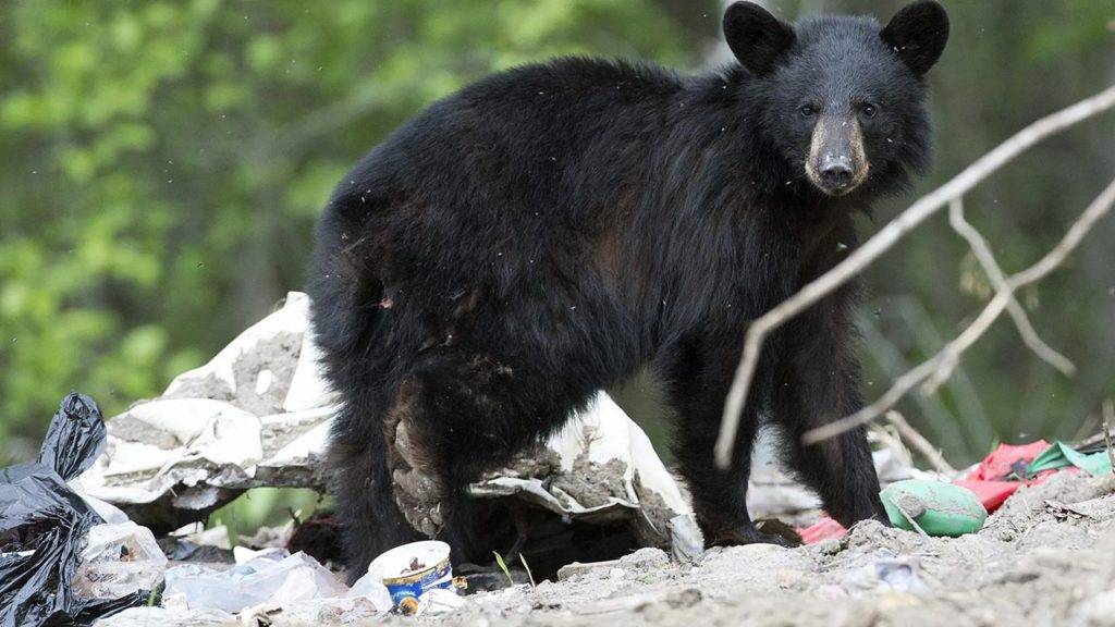
<instances>
[{"instance_id":1,"label":"entire blurred green woodland background surrounding the bear","mask_svg":"<svg viewBox=\"0 0 1115 627\"><path fill-rule=\"evenodd\" d=\"M764 3L787 19L882 20L902 4ZM930 79L939 154L921 191L1115 83L1113 0L946 4L953 33ZM426 104L560 54L707 69L728 59L720 10L712 0L3 2L0 462L33 455L68 390L115 414L301 289L332 185ZM969 195L970 219L1008 271L1040 255L1115 175L1113 131L1111 115L1089 122ZM881 208L879 223L902 206ZM1115 395L1113 222L1022 295L1076 377L1038 361L1000 321L940 394L901 405L954 463L999 440L1096 428L1099 402ZM867 283L869 396L989 298L943 219ZM618 394L662 444L653 383L640 376Z\"/></svg>"}]
</instances>

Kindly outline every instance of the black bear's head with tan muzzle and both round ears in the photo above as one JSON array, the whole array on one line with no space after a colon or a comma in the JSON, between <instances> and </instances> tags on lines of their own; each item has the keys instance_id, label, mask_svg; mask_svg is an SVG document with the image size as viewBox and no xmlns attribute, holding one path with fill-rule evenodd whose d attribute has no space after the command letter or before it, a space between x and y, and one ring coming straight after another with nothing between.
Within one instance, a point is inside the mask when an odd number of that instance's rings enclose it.
<instances>
[{"instance_id":1,"label":"black bear's head with tan muzzle and both round ears","mask_svg":"<svg viewBox=\"0 0 1115 627\"><path fill-rule=\"evenodd\" d=\"M886 192L928 164L923 77L949 37L937 2L914 2L885 27L854 17L789 25L736 2L724 33L750 75L745 89L759 132L822 193Z\"/></svg>"}]
</instances>

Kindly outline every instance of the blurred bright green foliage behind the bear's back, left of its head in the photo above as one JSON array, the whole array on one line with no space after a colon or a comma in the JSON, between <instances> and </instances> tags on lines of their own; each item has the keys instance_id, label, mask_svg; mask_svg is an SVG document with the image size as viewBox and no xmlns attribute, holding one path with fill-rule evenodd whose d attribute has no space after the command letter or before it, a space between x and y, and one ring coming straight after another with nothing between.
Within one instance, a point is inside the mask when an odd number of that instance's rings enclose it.
<instances>
[{"instance_id":1,"label":"blurred bright green foliage behind the bear's back, left of its head","mask_svg":"<svg viewBox=\"0 0 1115 627\"><path fill-rule=\"evenodd\" d=\"M561 54L697 58L644 0L41 0L0 41L0 436L35 437L300 289L331 187L430 100Z\"/></svg>"}]
</instances>

